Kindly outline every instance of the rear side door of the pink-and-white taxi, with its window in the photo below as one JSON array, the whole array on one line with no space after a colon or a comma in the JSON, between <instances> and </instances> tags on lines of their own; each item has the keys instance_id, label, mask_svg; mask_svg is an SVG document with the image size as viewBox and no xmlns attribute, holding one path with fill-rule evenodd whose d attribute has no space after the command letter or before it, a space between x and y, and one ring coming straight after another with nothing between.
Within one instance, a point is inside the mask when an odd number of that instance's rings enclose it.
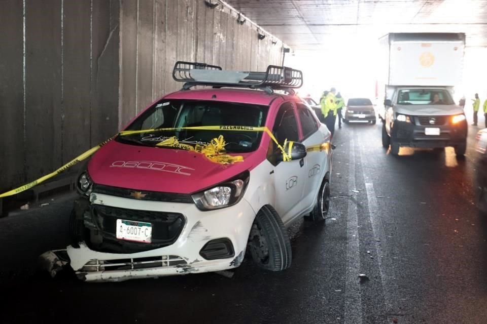
<instances>
[{"instance_id":1,"label":"rear side door of the pink-and-white taxi, with its window","mask_svg":"<svg viewBox=\"0 0 487 324\"><path fill-rule=\"evenodd\" d=\"M310 147L319 147L324 142L324 135L318 131L318 124L312 112L305 105L297 104L297 112L302 130L301 143ZM308 208L315 204L315 196L320 189L321 179L326 167L327 152L319 149L310 149L304 158L304 193L302 204Z\"/></svg>"}]
</instances>

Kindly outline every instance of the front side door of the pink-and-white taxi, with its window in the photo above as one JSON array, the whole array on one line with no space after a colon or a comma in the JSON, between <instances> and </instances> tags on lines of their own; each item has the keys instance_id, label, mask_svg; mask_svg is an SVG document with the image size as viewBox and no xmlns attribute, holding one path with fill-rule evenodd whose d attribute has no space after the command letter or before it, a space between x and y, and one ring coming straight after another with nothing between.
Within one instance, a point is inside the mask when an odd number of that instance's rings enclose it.
<instances>
[{"instance_id":1,"label":"front side door of the pink-and-white taxi, with its window","mask_svg":"<svg viewBox=\"0 0 487 324\"><path fill-rule=\"evenodd\" d=\"M281 105L277 111L272 128L277 142L281 145L288 141L299 142L300 130L297 123L296 109L291 102ZM271 141L270 156L279 156L279 148ZM272 173L275 188L275 210L286 224L303 210L301 199L306 184L304 159L293 161L269 161L275 166Z\"/></svg>"}]
</instances>

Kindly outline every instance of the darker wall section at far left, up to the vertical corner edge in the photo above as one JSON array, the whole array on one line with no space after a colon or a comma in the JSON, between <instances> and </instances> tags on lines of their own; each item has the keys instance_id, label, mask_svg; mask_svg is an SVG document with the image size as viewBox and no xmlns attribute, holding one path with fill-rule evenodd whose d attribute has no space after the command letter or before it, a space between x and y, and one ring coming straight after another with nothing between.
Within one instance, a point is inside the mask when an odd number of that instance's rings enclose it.
<instances>
[{"instance_id":1,"label":"darker wall section at far left, up to the vertical corner edge","mask_svg":"<svg viewBox=\"0 0 487 324\"><path fill-rule=\"evenodd\" d=\"M2 0L0 192L118 126L118 0Z\"/></svg>"}]
</instances>

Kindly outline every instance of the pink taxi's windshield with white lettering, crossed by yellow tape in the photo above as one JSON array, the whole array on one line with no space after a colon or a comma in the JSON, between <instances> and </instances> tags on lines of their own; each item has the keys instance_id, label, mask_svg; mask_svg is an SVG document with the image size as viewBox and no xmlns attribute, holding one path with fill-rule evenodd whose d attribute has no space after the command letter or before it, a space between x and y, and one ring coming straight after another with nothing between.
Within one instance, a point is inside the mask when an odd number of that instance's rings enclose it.
<instances>
[{"instance_id":1,"label":"pink taxi's windshield with white lettering, crossed by yellow tape","mask_svg":"<svg viewBox=\"0 0 487 324\"><path fill-rule=\"evenodd\" d=\"M161 100L133 121L127 131L159 128L184 128L202 126L252 126L265 125L267 106L194 100ZM208 144L223 135L227 152L251 152L257 149L262 132L222 130L152 131L118 136L120 142L155 146L171 137L180 143ZM165 147L165 146L164 146Z\"/></svg>"}]
</instances>

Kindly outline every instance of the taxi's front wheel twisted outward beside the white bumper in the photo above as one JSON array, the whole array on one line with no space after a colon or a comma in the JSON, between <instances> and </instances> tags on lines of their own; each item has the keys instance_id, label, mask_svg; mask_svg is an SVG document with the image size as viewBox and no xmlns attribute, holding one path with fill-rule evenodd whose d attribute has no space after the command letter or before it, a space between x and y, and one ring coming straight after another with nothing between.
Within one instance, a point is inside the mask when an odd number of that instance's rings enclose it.
<instances>
[{"instance_id":1,"label":"taxi's front wheel twisted outward beside the white bumper","mask_svg":"<svg viewBox=\"0 0 487 324\"><path fill-rule=\"evenodd\" d=\"M281 271L291 266L291 242L283 221L270 206L257 213L250 230L249 250L258 267Z\"/></svg>"}]
</instances>

